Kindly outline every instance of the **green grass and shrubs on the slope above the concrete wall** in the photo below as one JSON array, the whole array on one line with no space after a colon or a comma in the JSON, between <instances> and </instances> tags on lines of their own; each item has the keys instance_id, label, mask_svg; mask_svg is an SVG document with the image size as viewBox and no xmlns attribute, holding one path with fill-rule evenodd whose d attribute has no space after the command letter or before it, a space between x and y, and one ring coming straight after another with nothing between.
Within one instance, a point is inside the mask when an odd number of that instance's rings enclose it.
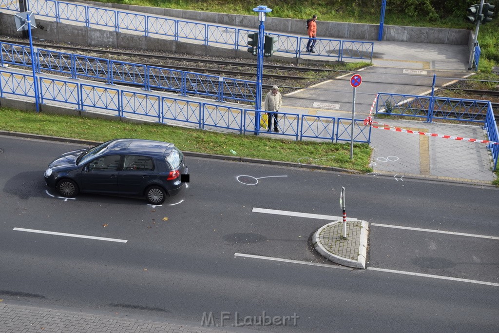
<instances>
[{"instance_id":1,"label":"green grass and shrubs on the slope above the concrete wall","mask_svg":"<svg viewBox=\"0 0 499 333\"><path fill-rule=\"evenodd\" d=\"M252 8L264 4L272 11L268 16L306 19L317 14L319 22L357 22L378 24L381 0L266 0L251 2L246 0L100 0L199 11L223 12L255 15ZM480 1L475 1L480 2ZM475 29L475 25L465 21L471 0L388 0L385 11L385 24L406 26L428 26L442 28ZM480 70L490 72L499 63L499 0L488 0L496 5L494 19L480 25L478 41L482 49Z\"/></svg>"}]
</instances>

